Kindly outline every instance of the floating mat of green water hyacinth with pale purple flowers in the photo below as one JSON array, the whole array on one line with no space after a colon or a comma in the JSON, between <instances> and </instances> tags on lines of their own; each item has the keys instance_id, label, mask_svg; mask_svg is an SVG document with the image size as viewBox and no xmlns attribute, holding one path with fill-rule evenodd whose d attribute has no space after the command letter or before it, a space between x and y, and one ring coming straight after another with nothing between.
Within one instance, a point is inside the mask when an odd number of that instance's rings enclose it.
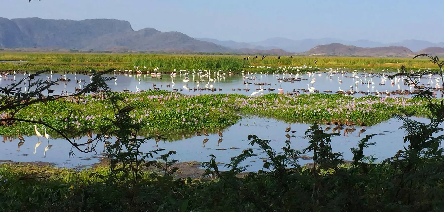
<instances>
[{"instance_id":1,"label":"floating mat of green water hyacinth with pale purple flowers","mask_svg":"<svg viewBox=\"0 0 444 212\"><path fill-rule=\"evenodd\" d=\"M341 94L302 94L285 96L266 94L249 97L242 94L198 94L186 95L164 90L141 93L117 93L127 104L135 106L131 112L133 122L143 130L158 129L164 134L184 133L205 126L209 131L234 125L244 115L274 118L289 123L321 122L322 119L349 119L371 126L384 122L401 110L419 116L429 114L426 103L420 98L380 98L365 96L353 98ZM122 103L123 104L123 103ZM66 99L30 105L16 114L16 118L43 120L56 127L66 129L99 130L110 123L114 116L106 95L87 95L77 99ZM44 126L38 126L44 128ZM0 134L14 136L20 130L23 135L33 135L31 123L16 122L15 126L0 127ZM48 129L49 133L54 133Z\"/></svg>"}]
</instances>

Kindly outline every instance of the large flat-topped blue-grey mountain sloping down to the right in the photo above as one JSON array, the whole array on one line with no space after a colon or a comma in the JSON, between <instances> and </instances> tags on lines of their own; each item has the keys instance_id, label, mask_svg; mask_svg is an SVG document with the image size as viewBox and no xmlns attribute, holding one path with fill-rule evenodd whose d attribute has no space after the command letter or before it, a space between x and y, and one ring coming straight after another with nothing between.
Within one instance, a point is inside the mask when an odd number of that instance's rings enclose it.
<instances>
[{"instance_id":1,"label":"large flat-topped blue-grey mountain sloping down to the right","mask_svg":"<svg viewBox=\"0 0 444 212\"><path fill-rule=\"evenodd\" d=\"M180 50L234 52L215 43L200 41L180 32L153 28L134 31L127 21L115 19L45 20L0 18L0 47L59 47L80 50Z\"/></svg>"}]
</instances>

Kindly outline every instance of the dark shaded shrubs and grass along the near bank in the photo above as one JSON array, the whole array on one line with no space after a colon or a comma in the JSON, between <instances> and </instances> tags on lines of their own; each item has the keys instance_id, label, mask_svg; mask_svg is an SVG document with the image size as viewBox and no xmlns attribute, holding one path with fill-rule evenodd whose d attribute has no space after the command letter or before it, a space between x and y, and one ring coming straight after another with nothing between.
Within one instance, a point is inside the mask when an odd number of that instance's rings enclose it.
<instances>
[{"instance_id":1,"label":"dark shaded shrubs and grass along the near bank","mask_svg":"<svg viewBox=\"0 0 444 212\"><path fill-rule=\"evenodd\" d=\"M120 177L113 178L108 167L74 172L0 165L0 207L14 211L67 212L444 209L441 189L444 163L439 154L442 149L400 151L381 164L372 164L373 156L365 156L363 150L374 145L369 143L373 134L352 149L353 164L344 166L341 154L331 151L330 137L337 134L323 133L317 125L306 133L310 145L304 152L314 153L316 166L311 169L299 166L300 152L291 149L289 141L283 148L285 153L276 155L268 146L270 141L249 136L250 144L266 151L268 160L263 170L245 177L236 177L245 170L238 164L254 155L252 149L233 157L226 165L230 170L223 173L218 171L216 158L212 156L203 163L206 174L212 176L208 179L174 179L175 170L169 171L168 163L162 166L166 174L142 171L137 179L123 172L115 173ZM414 150L413 145L409 149Z\"/></svg>"}]
</instances>

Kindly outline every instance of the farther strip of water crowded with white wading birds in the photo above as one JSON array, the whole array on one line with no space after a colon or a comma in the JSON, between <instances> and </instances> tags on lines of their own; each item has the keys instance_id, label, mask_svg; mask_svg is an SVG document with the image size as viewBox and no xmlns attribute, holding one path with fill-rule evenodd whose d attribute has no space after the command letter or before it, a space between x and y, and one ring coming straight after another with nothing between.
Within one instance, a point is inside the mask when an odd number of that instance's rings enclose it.
<instances>
[{"instance_id":1,"label":"farther strip of water crowded with white wading birds","mask_svg":"<svg viewBox=\"0 0 444 212\"><path fill-rule=\"evenodd\" d=\"M264 72L263 72L264 73ZM324 91L331 90L333 93L335 93L338 90L345 90L348 91L350 89L355 92L353 96L360 97L366 94L358 93L358 91L364 91L364 92L381 92L382 96L385 96L385 91L395 91L395 90L412 90L411 87L404 85L403 80L399 80L399 82L396 82L392 85L390 80L385 81L385 85L380 85L379 83L382 82L383 77L387 77L387 75L377 75L373 74L372 77L369 77L368 74L357 74L353 75L353 73L347 73L347 74L334 74L333 76L330 76L329 73L320 72L317 74L301 74L298 76L292 76L293 78L301 79L300 81L293 81L293 82L285 82L282 81L282 83L279 83L282 79L282 74L279 76L277 75L246 75L250 79L244 79L241 75L224 75L220 76L219 78L214 77L212 75L212 78L216 78L214 82L208 83L208 77L200 78L198 75L187 75L190 79L190 82L183 82L183 79L185 79L186 75L176 75L175 77L171 77L168 75L160 75L156 77L151 77L151 75L147 74L139 74L139 75L131 75L131 74L114 74L109 76L115 76L117 77L117 80L115 82L108 82L108 85L116 91L123 91L124 89L130 90L130 91L137 91L136 87L140 90L149 90L153 89L153 87L160 88L161 90L169 90L173 91L176 90L178 92L184 93L184 94L213 94L213 93L238 93L238 94L245 94L245 95L251 95L254 91L258 91L260 88L260 85L255 85L255 83L266 83L266 85L262 85L262 88L264 89L263 94L267 93L279 93L279 88L283 89L283 92L292 92L294 90L298 89L308 89L308 86L313 86L315 90L319 91L320 93L325 93ZM254 80L252 78L256 76ZM22 73L17 75L8 75L8 77L3 77L3 80L0 81L0 86L6 86L10 85L11 83L16 83L18 80L23 79L24 75ZM51 74L44 74L41 76L43 79L47 79L47 77L51 78L52 80L55 79L61 79L64 78L63 73L54 73ZM359 77L359 78L357 78ZM289 75L285 75L285 78L289 78ZM312 80L316 79L314 83L310 83ZM421 83L424 83L424 85L430 84L430 86L434 87L436 84L436 80L434 79L435 76L432 76L432 79L429 78L428 75L424 76L423 79L420 79ZM14 81L15 79L15 81ZM71 79L70 82L60 82L58 86L54 86L52 89L55 90L55 94L60 94L62 91L68 91L68 92L75 92L76 87L80 87L79 84L84 84L90 82L90 77L88 75L74 75L74 74L66 74L66 79ZM77 80L84 80L85 82L77 83ZM139 81L140 80L140 81ZM199 80L199 84L197 81ZM341 80L341 82L339 81ZM361 83L364 82L364 84ZM173 83L174 82L174 83ZM244 84L244 82L246 84ZM358 83L356 83L358 82ZM369 83L367 83L369 82ZM373 82L373 84L372 84ZM247 84L251 83L251 84ZM185 85L188 85L185 87ZM269 84L269 85L268 85ZM352 86L352 88L350 87ZM196 90L193 90L196 88ZM214 88L215 91L212 90L206 90L206 88ZM24 89L24 88L22 88ZM190 89L190 90L187 90ZM199 89L205 89L205 90L199 90ZM246 90L250 89L250 90ZM274 89L274 90L268 90L268 89ZM300 91L300 93L303 93L303 91ZM262 94L262 93L259 93ZM392 94L393 95L393 94Z\"/></svg>"}]
</instances>

